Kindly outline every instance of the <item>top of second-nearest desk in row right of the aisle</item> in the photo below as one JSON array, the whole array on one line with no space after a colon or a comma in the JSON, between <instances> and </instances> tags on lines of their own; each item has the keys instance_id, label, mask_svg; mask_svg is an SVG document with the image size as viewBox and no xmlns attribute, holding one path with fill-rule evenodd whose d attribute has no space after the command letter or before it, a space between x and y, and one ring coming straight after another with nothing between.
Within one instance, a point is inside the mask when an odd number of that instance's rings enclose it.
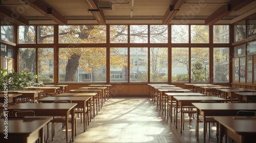
<instances>
[{"instance_id":1,"label":"top of second-nearest desk in row right of the aisle","mask_svg":"<svg viewBox=\"0 0 256 143\"><path fill-rule=\"evenodd\" d=\"M256 104L252 103L192 103L199 110L255 110Z\"/></svg>"}]
</instances>

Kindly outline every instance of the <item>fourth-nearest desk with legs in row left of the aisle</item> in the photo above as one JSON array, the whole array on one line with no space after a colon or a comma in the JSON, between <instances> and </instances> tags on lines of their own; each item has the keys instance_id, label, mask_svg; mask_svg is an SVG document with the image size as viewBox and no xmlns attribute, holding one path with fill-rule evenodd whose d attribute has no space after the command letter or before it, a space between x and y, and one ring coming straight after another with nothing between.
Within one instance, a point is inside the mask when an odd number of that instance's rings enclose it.
<instances>
[{"instance_id":1,"label":"fourth-nearest desk with legs in row left of the aisle","mask_svg":"<svg viewBox=\"0 0 256 143\"><path fill-rule=\"evenodd\" d=\"M96 96L96 98L95 98ZM98 102L97 102L97 93L60 93L57 94L56 97L91 97L92 100L90 100L91 105L95 105L95 101L96 101L96 114L98 114ZM89 108L88 108L89 109ZM93 113L93 116L92 116ZM95 116L95 106L93 106L92 110L90 109L90 117L94 117Z\"/></svg>"}]
</instances>

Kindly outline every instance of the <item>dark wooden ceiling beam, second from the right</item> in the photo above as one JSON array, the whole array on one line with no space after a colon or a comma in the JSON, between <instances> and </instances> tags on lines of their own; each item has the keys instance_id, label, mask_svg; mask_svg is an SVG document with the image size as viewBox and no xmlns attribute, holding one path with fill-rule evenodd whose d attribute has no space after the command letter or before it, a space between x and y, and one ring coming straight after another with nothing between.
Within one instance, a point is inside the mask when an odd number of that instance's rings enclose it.
<instances>
[{"instance_id":1,"label":"dark wooden ceiling beam, second from the right","mask_svg":"<svg viewBox=\"0 0 256 143\"><path fill-rule=\"evenodd\" d=\"M168 7L168 9L166 10L163 16L163 21L162 21L163 25L168 25L170 21L172 21L176 13L179 11L181 6L183 5L184 1L185 0L175 0L175 2Z\"/></svg>"}]
</instances>

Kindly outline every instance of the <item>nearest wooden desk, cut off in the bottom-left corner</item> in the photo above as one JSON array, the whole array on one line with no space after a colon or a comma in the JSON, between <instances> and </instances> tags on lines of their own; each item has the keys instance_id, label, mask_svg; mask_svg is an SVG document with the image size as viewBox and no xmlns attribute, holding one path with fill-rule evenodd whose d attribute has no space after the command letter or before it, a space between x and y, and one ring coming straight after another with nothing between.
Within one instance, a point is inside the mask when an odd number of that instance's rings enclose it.
<instances>
[{"instance_id":1,"label":"nearest wooden desk, cut off in the bottom-left corner","mask_svg":"<svg viewBox=\"0 0 256 143\"><path fill-rule=\"evenodd\" d=\"M8 139L5 137L4 118L0 118L0 142L39 142L44 141L44 126L51 121L52 117L9 117Z\"/></svg>"}]
</instances>

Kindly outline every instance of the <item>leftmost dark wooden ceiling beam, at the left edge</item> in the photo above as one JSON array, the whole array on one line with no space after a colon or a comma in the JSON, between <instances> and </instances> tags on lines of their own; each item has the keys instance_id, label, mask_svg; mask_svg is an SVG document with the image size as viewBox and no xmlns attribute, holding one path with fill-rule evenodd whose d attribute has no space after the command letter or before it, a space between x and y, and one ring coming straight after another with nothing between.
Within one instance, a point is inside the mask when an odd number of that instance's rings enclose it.
<instances>
[{"instance_id":1,"label":"leftmost dark wooden ceiling beam, at the left edge","mask_svg":"<svg viewBox=\"0 0 256 143\"><path fill-rule=\"evenodd\" d=\"M0 18L7 20L6 24L11 22L18 26L28 26L29 25L29 20L24 18L18 12L14 11L14 10L9 10L8 8L6 8L4 6L0 6Z\"/></svg>"}]
</instances>

